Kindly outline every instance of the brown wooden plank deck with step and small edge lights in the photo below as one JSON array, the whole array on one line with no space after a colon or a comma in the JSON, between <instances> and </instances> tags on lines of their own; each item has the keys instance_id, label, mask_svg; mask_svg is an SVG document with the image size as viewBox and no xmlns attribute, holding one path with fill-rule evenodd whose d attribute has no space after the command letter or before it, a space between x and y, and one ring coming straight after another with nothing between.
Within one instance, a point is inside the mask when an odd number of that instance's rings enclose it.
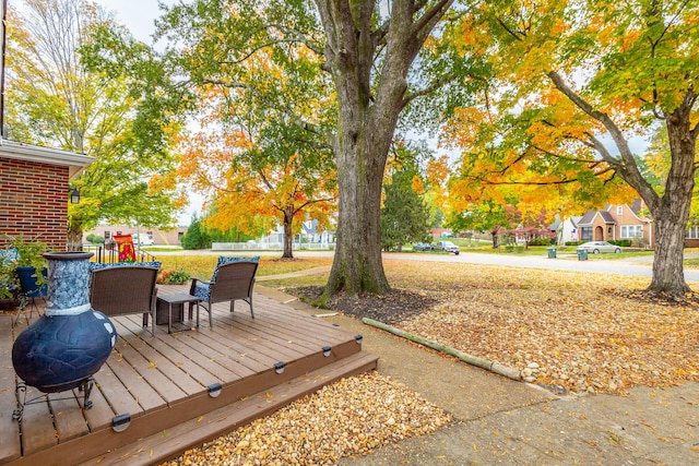
<instances>
[{"instance_id":1,"label":"brown wooden plank deck with step and small edge lights","mask_svg":"<svg viewBox=\"0 0 699 466\"><path fill-rule=\"evenodd\" d=\"M158 292L182 290L159 286ZM0 464L158 463L376 368L360 337L261 295L253 303L254 319L242 301L235 313L223 303L214 306L213 328L203 312L198 331L170 335L158 325L155 337L140 315L112 319L119 338L94 377L93 407L82 408L78 390L50 394L28 404L21 421L12 419L17 381L11 353L27 320L12 327L11 316L0 315ZM212 396L216 384L220 394ZM27 399L39 395L27 391ZM130 423L118 432L114 423L125 417Z\"/></svg>"}]
</instances>

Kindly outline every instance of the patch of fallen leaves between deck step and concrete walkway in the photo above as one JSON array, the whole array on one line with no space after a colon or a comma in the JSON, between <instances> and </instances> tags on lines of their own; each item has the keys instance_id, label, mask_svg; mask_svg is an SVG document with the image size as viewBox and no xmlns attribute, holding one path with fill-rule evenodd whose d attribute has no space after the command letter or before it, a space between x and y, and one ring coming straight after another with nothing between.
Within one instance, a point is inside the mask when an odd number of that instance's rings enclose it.
<instances>
[{"instance_id":1,"label":"patch of fallen leaves between deck step and concrete walkway","mask_svg":"<svg viewBox=\"0 0 699 466\"><path fill-rule=\"evenodd\" d=\"M334 465L450 421L405 385L374 372L327 385L165 465Z\"/></svg>"}]
</instances>

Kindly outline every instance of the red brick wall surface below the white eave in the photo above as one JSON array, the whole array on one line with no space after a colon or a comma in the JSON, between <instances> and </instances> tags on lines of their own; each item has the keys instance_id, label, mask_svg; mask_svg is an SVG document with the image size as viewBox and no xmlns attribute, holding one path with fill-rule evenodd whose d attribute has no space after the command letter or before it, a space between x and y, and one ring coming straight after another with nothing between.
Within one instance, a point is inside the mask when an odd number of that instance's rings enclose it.
<instances>
[{"instance_id":1,"label":"red brick wall surface below the white eave","mask_svg":"<svg viewBox=\"0 0 699 466\"><path fill-rule=\"evenodd\" d=\"M64 251L68 167L0 158L0 232L36 238ZM5 240L0 237L0 247Z\"/></svg>"}]
</instances>

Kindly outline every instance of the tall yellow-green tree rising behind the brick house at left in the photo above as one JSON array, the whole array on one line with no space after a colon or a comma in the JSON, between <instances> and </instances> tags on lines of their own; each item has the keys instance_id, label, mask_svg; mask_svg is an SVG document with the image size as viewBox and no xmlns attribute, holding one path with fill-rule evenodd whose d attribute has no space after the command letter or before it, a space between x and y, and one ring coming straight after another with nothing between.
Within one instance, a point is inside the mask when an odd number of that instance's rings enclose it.
<instances>
[{"instance_id":1,"label":"tall yellow-green tree rising behind the brick house at left","mask_svg":"<svg viewBox=\"0 0 699 466\"><path fill-rule=\"evenodd\" d=\"M157 177L171 159L152 134L139 134L132 83L81 61L98 27L118 26L85 0L26 0L25 7L8 19L9 136L95 157L72 181L81 202L69 204L69 242L82 242L83 230L100 218L171 225L175 189Z\"/></svg>"}]
</instances>

